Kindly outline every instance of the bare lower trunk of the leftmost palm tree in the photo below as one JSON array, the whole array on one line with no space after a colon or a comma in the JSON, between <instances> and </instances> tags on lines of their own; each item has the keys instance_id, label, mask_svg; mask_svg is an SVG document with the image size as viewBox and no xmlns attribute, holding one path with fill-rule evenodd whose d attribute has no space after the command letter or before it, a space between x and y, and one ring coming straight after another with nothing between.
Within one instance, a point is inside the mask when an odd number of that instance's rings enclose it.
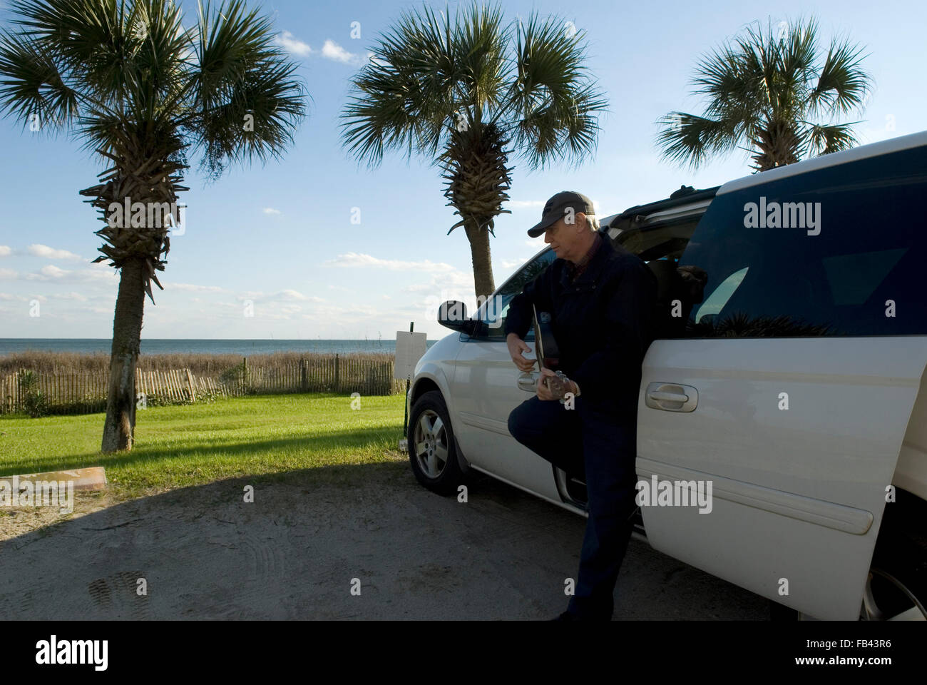
<instances>
[{"instance_id":1,"label":"bare lower trunk of the leftmost palm tree","mask_svg":"<svg viewBox=\"0 0 927 685\"><path fill-rule=\"evenodd\" d=\"M145 309L145 262L130 259L122 265L113 344L109 358L107 419L103 425L103 451L132 449L135 429L135 364L142 337Z\"/></svg>"}]
</instances>

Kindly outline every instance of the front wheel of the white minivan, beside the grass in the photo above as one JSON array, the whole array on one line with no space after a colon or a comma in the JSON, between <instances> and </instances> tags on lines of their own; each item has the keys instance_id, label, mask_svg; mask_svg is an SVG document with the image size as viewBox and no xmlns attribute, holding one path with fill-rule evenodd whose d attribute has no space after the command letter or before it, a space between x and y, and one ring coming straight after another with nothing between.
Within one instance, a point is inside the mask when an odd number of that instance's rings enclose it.
<instances>
[{"instance_id":1,"label":"front wheel of the white minivan, beside the grass","mask_svg":"<svg viewBox=\"0 0 927 685\"><path fill-rule=\"evenodd\" d=\"M438 495L456 495L468 478L458 461L457 444L444 397L437 390L415 400L409 414L409 462L416 480Z\"/></svg>"}]
</instances>

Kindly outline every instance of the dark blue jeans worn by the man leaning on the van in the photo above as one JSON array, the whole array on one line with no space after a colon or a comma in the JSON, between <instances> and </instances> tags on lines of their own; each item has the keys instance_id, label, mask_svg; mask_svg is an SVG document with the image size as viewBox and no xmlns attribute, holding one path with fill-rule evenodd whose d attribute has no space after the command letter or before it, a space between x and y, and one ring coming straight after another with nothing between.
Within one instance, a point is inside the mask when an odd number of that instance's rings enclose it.
<instances>
[{"instance_id":1,"label":"dark blue jeans worn by the man leaning on the van","mask_svg":"<svg viewBox=\"0 0 927 685\"><path fill-rule=\"evenodd\" d=\"M576 408L570 410L535 395L509 414L509 433L554 466L585 475L589 520L579 554L576 594L567 610L609 620L633 526L631 516L637 508L637 417L619 417L584 400L577 397Z\"/></svg>"}]
</instances>

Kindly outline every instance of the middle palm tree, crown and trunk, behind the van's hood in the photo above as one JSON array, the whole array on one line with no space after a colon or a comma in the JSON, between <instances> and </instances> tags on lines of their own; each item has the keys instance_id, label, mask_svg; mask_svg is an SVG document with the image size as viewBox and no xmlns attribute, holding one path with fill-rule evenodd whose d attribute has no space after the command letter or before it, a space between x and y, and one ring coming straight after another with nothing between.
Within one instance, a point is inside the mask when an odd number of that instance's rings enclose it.
<instances>
[{"instance_id":1,"label":"middle palm tree, crown and trunk, behind the van's hood","mask_svg":"<svg viewBox=\"0 0 927 685\"><path fill-rule=\"evenodd\" d=\"M489 233L509 213L510 157L538 168L595 149L606 102L584 64L583 38L572 23L536 14L504 23L498 6L475 3L452 19L425 7L381 35L352 80L344 145L371 166L387 150L438 166L460 216L448 233L464 226L477 298L495 291Z\"/></svg>"}]
</instances>

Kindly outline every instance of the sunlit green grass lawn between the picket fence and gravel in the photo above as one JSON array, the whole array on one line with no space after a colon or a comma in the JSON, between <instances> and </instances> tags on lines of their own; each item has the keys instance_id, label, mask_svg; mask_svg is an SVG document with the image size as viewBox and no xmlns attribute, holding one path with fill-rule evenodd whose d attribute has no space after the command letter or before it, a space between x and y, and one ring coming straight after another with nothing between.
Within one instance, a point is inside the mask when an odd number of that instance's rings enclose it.
<instances>
[{"instance_id":1,"label":"sunlit green grass lawn between the picket fence and gravel","mask_svg":"<svg viewBox=\"0 0 927 685\"><path fill-rule=\"evenodd\" d=\"M223 478L396 463L403 395L274 394L136 412L135 445L100 452L104 414L0 417L0 476L103 466L121 498ZM349 477L350 469L325 470ZM340 474L340 475L339 475Z\"/></svg>"}]
</instances>

